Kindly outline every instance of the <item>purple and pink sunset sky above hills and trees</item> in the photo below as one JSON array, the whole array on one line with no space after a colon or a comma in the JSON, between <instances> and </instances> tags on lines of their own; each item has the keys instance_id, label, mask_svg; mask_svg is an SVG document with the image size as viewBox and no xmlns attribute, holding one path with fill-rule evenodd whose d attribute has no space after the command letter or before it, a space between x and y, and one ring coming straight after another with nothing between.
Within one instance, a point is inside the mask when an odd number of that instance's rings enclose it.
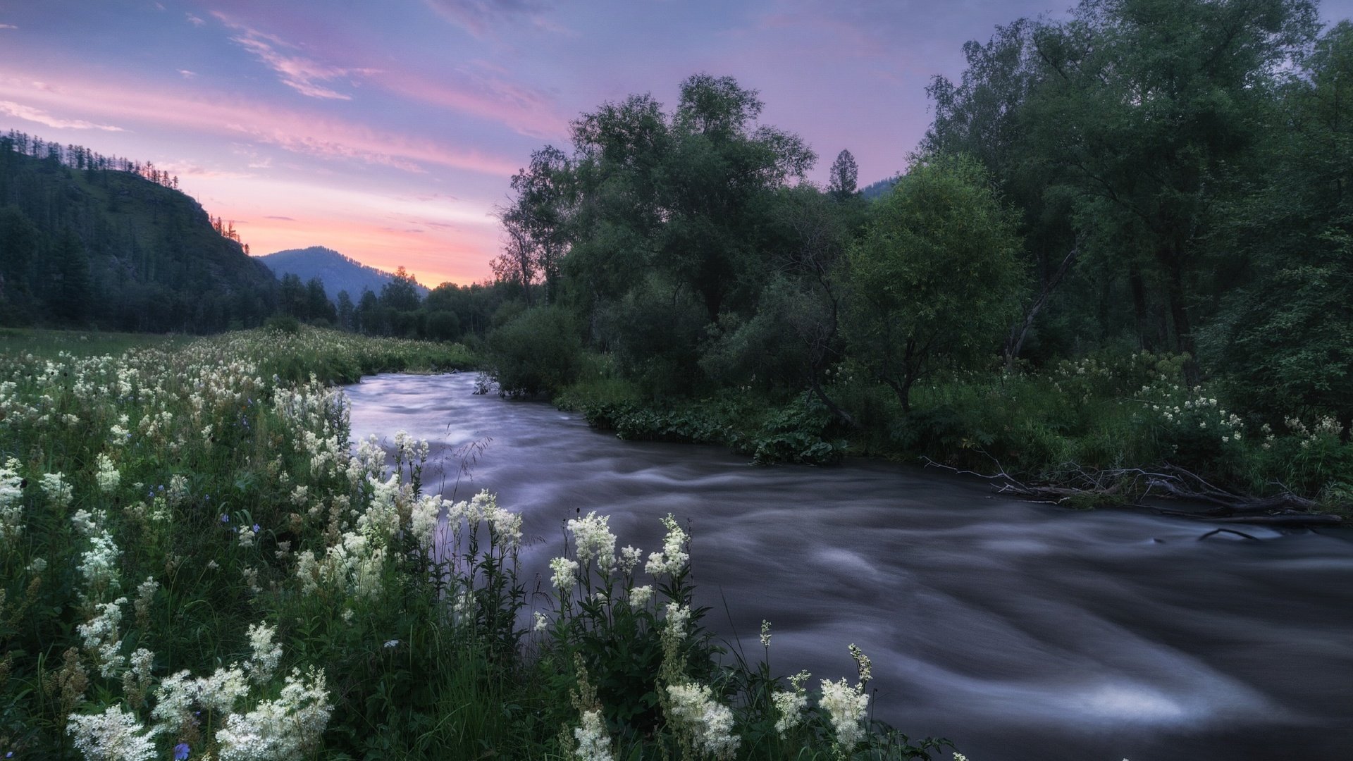
<instances>
[{"instance_id":1,"label":"purple and pink sunset sky above hills and trees","mask_svg":"<svg viewBox=\"0 0 1353 761\"><path fill-rule=\"evenodd\" d=\"M0 0L0 131L153 161L256 255L323 245L490 278L494 210L579 114L694 73L762 123L901 171L962 45L1069 0ZM1326 1L1325 20L1353 16Z\"/></svg>"}]
</instances>

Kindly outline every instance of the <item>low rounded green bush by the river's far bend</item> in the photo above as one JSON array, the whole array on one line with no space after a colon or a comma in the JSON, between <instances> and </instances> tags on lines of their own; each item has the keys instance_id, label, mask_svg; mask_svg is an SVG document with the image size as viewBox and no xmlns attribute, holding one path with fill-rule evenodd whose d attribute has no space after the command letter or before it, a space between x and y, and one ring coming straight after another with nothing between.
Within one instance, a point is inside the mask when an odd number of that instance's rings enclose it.
<instances>
[{"instance_id":1,"label":"low rounded green bush by the river's far bend","mask_svg":"<svg viewBox=\"0 0 1353 761\"><path fill-rule=\"evenodd\" d=\"M503 394L552 394L578 375L582 340L563 309L528 309L488 334L488 359Z\"/></svg>"}]
</instances>

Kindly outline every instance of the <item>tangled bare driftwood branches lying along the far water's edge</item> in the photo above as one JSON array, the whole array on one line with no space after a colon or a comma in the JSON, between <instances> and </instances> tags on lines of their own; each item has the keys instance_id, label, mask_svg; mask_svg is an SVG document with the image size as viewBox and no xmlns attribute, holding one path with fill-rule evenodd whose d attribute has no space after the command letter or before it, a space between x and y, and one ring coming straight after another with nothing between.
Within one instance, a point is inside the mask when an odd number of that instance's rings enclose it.
<instances>
[{"instance_id":1,"label":"tangled bare driftwood branches lying along the far water's edge","mask_svg":"<svg viewBox=\"0 0 1353 761\"><path fill-rule=\"evenodd\" d=\"M1319 505L1315 501L1293 494L1287 489L1272 497L1250 497L1222 489L1196 473L1172 464L1153 470L1137 467L1085 470L1084 467L1069 464L1063 466L1063 477L1057 483L1028 483L1005 473L1000 463L996 463L994 474L986 474L973 470L959 470L930 458L921 459L925 460L925 467L938 467L950 473L976 475L986 479L996 487L997 494L1022 497L1028 501L1050 505L1065 505L1073 500L1086 500L1145 506L1160 515L1207 521L1293 527L1344 524L1342 517L1318 513ZM1189 500L1206 502L1212 506L1203 510L1173 510L1142 505L1141 501L1147 497ZM1211 536L1211 534L1204 536Z\"/></svg>"}]
</instances>

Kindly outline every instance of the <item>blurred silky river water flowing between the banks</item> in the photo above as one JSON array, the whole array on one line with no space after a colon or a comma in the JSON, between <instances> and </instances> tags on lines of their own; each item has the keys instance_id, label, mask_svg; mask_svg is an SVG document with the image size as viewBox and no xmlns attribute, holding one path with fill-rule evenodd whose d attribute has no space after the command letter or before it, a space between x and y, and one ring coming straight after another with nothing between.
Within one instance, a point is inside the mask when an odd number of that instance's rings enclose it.
<instances>
[{"instance_id":1,"label":"blurred silky river water flowing between the banks","mask_svg":"<svg viewBox=\"0 0 1353 761\"><path fill-rule=\"evenodd\" d=\"M770 620L773 670L812 684L854 677L859 645L875 715L973 761L1353 758L1348 531L1200 542L1211 525L1011 501L889 463L752 467L472 385L368 378L346 390L353 435L428 439L430 487L520 510L528 580L548 581L579 512L645 552L670 512L694 534L709 628L751 658ZM472 462L455 456L472 441L487 443Z\"/></svg>"}]
</instances>

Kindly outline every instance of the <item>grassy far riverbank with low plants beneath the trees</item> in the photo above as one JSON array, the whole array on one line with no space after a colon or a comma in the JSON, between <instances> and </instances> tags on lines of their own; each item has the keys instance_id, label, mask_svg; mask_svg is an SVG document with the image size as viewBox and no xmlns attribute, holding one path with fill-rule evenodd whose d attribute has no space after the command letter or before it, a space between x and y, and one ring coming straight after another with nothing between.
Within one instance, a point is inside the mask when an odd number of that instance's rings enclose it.
<instances>
[{"instance_id":1,"label":"grassy far riverbank with low plants beneath the trees","mask_svg":"<svg viewBox=\"0 0 1353 761\"><path fill-rule=\"evenodd\" d=\"M1331 417L1237 414L1227 390L1189 387L1185 357L1104 352L1043 370L938 375L912 410L848 363L823 385L856 425L810 393L771 401L744 389L658 404L599 357L555 402L622 439L723 444L758 463L828 464L842 455L935 462L1070 483L1086 473L1176 466L1238 494L1292 492L1349 513L1353 443ZM1141 487L1086 493L1080 506L1132 501Z\"/></svg>"}]
</instances>

